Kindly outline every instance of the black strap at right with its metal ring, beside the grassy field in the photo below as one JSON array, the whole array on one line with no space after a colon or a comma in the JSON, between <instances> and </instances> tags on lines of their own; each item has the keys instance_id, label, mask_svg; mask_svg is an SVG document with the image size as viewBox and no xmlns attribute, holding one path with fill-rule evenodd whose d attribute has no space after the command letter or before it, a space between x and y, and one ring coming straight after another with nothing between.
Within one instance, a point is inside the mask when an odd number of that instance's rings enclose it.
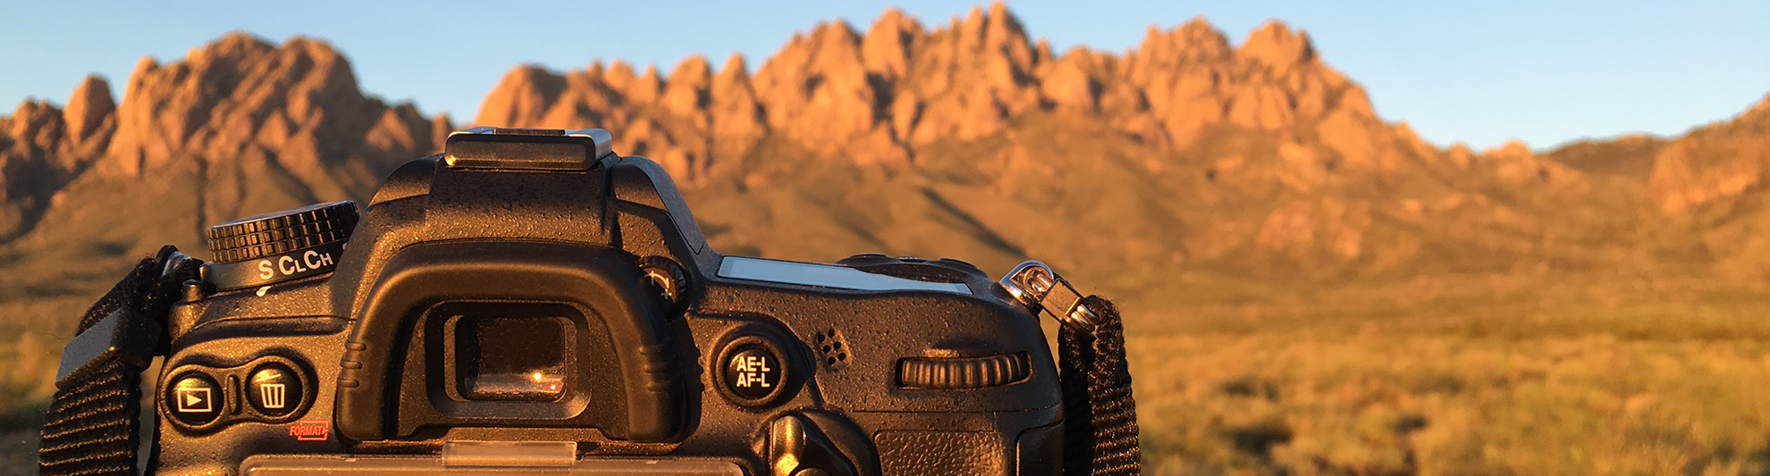
<instances>
[{"instance_id":1,"label":"black strap at right with its metal ring, beside the grassy field","mask_svg":"<svg viewBox=\"0 0 1770 476\"><path fill-rule=\"evenodd\" d=\"M1002 287L1032 311L1062 322L1064 476L1143 474L1119 308L1099 296L1081 297L1043 262L1020 264L1002 276Z\"/></svg>"}]
</instances>

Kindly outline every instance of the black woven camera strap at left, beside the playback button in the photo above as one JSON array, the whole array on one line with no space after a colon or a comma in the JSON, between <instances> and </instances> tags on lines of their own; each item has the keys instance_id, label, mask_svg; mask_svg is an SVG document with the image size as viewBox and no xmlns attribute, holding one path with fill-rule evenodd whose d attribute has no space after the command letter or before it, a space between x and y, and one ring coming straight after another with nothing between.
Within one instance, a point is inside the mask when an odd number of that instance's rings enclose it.
<instances>
[{"instance_id":1,"label":"black woven camera strap at left, beside the playback button","mask_svg":"<svg viewBox=\"0 0 1770 476\"><path fill-rule=\"evenodd\" d=\"M62 349L37 474L136 474L142 372L166 350L166 311L198 267L200 260L163 246L80 317L78 334Z\"/></svg>"}]
</instances>

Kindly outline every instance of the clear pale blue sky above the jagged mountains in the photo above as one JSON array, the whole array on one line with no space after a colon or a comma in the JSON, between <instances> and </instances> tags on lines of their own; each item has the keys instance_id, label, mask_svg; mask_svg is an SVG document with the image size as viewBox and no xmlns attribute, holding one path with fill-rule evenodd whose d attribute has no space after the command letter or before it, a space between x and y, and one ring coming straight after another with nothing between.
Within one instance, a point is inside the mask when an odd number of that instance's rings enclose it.
<instances>
[{"instance_id":1,"label":"clear pale blue sky above the jagged mountains","mask_svg":"<svg viewBox=\"0 0 1770 476\"><path fill-rule=\"evenodd\" d=\"M0 103L60 103L81 76L122 97L142 55L184 57L228 30L331 41L365 90L471 120L512 65L581 69L742 51L758 67L795 30L866 28L892 2L14 2L0 0ZM940 25L974 2L897 2ZM1149 25L1204 16L1239 44L1269 18L1308 30L1377 113L1427 140L1547 149L1632 131L1678 134L1770 92L1770 2L1009 2L1034 37L1124 51ZM9 113L9 110L0 110Z\"/></svg>"}]
</instances>

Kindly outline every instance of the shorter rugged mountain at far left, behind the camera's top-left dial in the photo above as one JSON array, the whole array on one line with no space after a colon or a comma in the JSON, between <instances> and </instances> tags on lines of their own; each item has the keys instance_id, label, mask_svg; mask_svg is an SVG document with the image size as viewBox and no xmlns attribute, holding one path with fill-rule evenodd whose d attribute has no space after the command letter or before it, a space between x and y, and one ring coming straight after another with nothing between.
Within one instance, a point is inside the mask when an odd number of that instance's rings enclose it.
<instances>
[{"instance_id":1,"label":"shorter rugged mountain at far left, behind the camera's top-left dial","mask_svg":"<svg viewBox=\"0 0 1770 476\"><path fill-rule=\"evenodd\" d=\"M51 196L81 180L186 173L181 180L189 182L181 189L214 195L200 200L193 216L366 198L388 170L435 150L451 129L446 119L423 117L411 104L389 106L365 96L349 60L324 41L297 35L273 44L244 32L166 64L143 57L120 103L112 99L108 81L88 76L65 110L23 104L21 111L9 129L28 126L34 138L0 149L0 179L7 184L0 216L12 216L4 219L0 237L30 230L55 202ZM193 166L207 172L189 175ZM274 170L285 184L202 186L223 170Z\"/></svg>"}]
</instances>

